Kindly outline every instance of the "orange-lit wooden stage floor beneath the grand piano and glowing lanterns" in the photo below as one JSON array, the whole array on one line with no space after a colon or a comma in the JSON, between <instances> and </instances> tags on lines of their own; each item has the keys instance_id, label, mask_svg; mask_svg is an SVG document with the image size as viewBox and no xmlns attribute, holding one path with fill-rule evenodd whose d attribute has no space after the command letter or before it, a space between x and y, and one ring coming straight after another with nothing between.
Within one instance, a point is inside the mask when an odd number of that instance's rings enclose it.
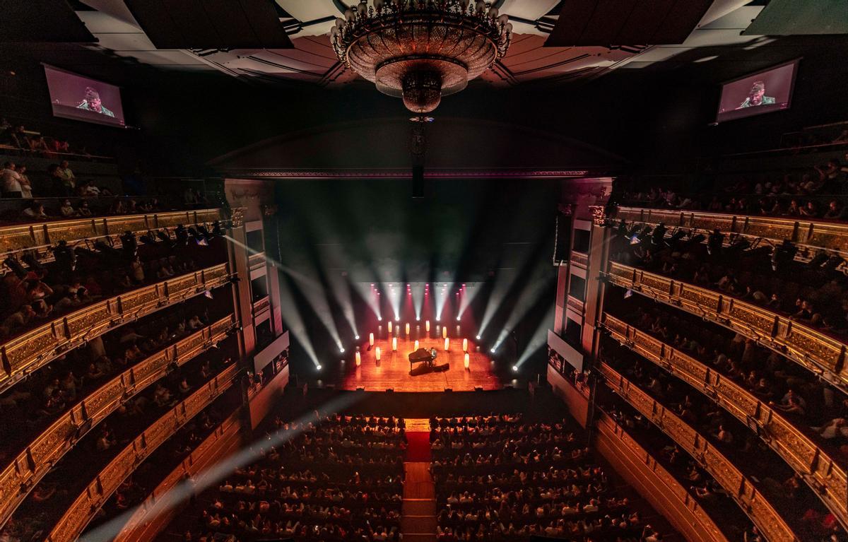
<instances>
[{"instance_id":1,"label":"orange-lit wooden stage floor beneath the grand piano and glowing lanterns","mask_svg":"<svg viewBox=\"0 0 848 542\"><path fill-rule=\"evenodd\" d=\"M492 360L488 355L477 352L477 344L468 343L469 368L466 370L465 353L462 351L462 339L450 339L450 351L444 351L444 339L421 339L420 348L435 348L438 352L438 365L449 363L446 372L430 372L415 377L410 376L410 360L408 355L415 349L415 341L398 338L398 351L392 351L391 339L374 342L374 347L368 350L368 344L360 350L362 365L357 367L354 356L346 360L342 371L340 388L355 390L365 388L365 391L385 391L389 388L396 392L440 392L444 388L454 391L474 391L480 387L484 390L500 389L500 380L494 374ZM380 366L377 366L377 347L381 350ZM418 366L420 364L416 364Z\"/></svg>"}]
</instances>

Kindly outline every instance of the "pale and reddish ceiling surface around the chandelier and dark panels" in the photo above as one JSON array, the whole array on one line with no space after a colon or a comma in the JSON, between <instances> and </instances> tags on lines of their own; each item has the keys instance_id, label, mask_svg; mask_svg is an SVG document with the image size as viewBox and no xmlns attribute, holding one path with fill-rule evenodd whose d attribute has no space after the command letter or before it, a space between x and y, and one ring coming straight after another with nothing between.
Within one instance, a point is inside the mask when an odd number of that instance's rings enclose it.
<instances>
[{"instance_id":1,"label":"pale and reddish ceiling surface around the chandelier and dark panels","mask_svg":"<svg viewBox=\"0 0 848 542\"><path fill-rule=\"evenodd\" d=\"M159 49L123 0L79 1L77 14L98 38L98 45L92 47L110 55L164 70L219 70L248 82L341 87L362 81L338 64L328 38L333 20L343 13L342 0L276 0L293 48L232 50ZM747 0L715 0L683 44L610 47L544 47L560 13L559 0L497 0L496 4L501 13L510 15L515 36L509 53L475 81L477 85L585 81L611 70L657 69L679 64L683 58L692 62L693 51L706 49L719 54L702 55L701 60L720 62L722 49L765 44L763 36L741 35L762 9L762 3Z\"/></svg>"}]
</instances>

